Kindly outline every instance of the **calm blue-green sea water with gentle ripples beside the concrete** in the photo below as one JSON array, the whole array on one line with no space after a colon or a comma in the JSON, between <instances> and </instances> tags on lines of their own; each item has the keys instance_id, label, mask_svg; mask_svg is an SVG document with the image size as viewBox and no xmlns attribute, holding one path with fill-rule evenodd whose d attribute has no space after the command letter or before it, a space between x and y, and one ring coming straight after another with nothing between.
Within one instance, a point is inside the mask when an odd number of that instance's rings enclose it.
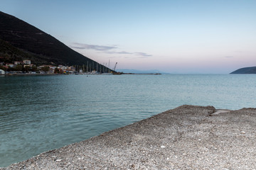
<instances>
[{"instance_id":1,"label":"calm blue-green sea water with gentle ripples beside the concrete","mask_svg":"<svg viewBox=\"0 0 256 170\"><path fill-rule=\"evenodd\" d=\"M0 166L183 104L256 107L256 75L0 77Z\"/></svg>"}]
</instances>

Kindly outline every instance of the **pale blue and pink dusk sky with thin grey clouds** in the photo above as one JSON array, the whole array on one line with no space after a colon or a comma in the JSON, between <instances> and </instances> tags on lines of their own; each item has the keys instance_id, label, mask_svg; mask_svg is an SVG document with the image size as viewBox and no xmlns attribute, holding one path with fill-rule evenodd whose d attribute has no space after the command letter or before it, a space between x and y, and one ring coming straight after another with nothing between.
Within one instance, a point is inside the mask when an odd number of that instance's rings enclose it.
<instances>
[{"instance_id":1,"label":"pale blue and pink dusk sky with thin grey clouds","mask_svg":"<svg viewBox=\"0 0 256 170\"><path fill-rule=\"evenodd\" d=\"M0 0L110 68L228 74L256 66L256 0Z\"/></svg>"}]
</instances>

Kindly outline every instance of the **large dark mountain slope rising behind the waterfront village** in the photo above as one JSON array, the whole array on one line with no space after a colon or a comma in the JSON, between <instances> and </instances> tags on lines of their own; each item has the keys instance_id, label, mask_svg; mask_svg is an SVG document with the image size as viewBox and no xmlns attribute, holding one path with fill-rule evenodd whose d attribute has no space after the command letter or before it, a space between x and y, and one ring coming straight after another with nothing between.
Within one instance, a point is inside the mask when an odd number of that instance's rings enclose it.
<instances>
[{"instance_id":1,"label":"large dark mountain slope rising behind the waterfront village","mask_svg":"<svg viewBox=\"0 0 256 170\"><path fill-rule=\"evenodd\" d=\"M0 11L0 62L31 60L34 64L82 65L97 62L70 49L53 36ZM99 67L99 65L98 65ZM104 68L104 66L101 66Z\"/></svg>"}]
</instances>

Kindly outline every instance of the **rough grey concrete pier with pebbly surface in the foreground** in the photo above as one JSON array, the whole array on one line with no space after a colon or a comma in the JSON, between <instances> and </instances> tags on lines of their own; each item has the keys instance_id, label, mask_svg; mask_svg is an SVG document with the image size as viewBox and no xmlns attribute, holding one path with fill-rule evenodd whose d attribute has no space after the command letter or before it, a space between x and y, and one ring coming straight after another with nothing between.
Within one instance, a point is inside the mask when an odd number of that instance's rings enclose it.
<instances>
[{"instance_id":1,"label":"rough grey concrete pier with pebbly surface in the foreground","mask_svg":"<svg viewBox=\"0 0 256 170\"><path fill-rule=\"evenodd\" d=\"M256 108L180 106L4 169L256 169Z\"/></svg>"}]
</instances>

